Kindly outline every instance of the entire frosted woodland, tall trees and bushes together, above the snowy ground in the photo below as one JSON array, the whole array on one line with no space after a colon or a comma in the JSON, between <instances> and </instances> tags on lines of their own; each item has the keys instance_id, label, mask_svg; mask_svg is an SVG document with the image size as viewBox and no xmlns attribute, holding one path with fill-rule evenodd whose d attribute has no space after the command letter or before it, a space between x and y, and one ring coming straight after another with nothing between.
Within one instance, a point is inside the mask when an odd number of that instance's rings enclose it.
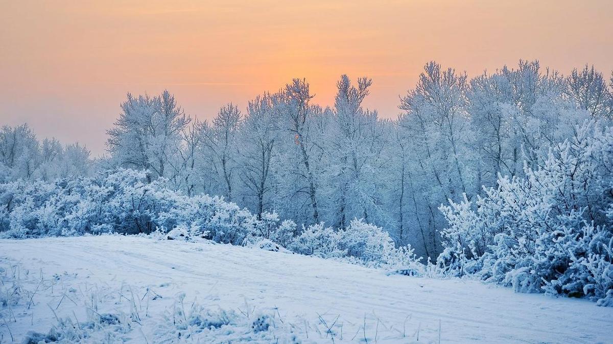
<instances>
[{"instance_id":1,"label":"entire frosted woodland, tall trees and bushes together, above the snowy ground","mask_svg":"<svg viewBox=\"0 0 613 344\"><path fill-rule=\"evenodd\" d=\"M183 236L613 305L613 73L428 62L394 119L342 75L188 114L132 95L107 153L0 131L0 236ZM172 234L171 234L172 233Z\"/></svg>"}]
</instances>

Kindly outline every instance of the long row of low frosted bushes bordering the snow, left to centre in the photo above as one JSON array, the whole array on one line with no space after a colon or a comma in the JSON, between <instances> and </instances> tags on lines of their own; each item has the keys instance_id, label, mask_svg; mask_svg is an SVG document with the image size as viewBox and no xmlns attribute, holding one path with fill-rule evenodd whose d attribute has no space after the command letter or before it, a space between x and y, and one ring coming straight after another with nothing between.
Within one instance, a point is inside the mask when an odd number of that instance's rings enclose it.
<instances>
[{"instance_id":1,"label":"long row of low frosted bushes bordering the snow, left to centre","mask_svg":"<svg viewBox=\"0 0 613 344\"><path fill-rule=\"evenodd\" d=\"M404 268L419 261L411 247L396 248L383 228L362 220L338 230L319 223L299 231L291 220L279 223L275 212L257 216L218 196L187 196L166 183L148 181L147 171L121 169L94 178L0 184L0 237L143 233L158 239L265 244L282 252L287 247L373 267Z\"/></svg>"}]
</instances>

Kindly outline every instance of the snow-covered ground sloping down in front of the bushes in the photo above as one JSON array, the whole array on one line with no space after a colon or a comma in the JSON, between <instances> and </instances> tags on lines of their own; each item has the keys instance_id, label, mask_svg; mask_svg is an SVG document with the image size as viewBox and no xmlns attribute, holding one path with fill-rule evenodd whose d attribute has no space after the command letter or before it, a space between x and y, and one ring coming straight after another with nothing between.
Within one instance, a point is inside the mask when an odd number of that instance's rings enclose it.
<instances>
[{"instance_id":1,"label":"snow-covered ground sloping down in front of the bushes","mask_svg":"<svg viewBox=\"0 0 613 344\"><path fill-rule=\"evenodd\" d=\"M613 308L585 300L202 242L2 240L0 279L2 343L613 342Z\"/></svg>"}]
</instances>

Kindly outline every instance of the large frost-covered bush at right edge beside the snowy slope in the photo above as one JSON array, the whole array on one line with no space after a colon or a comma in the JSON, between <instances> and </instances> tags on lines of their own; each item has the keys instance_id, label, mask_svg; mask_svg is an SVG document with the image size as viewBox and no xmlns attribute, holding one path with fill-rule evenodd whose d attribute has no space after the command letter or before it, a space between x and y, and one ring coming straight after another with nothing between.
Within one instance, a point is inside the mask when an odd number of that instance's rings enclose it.
<instances>
[{"instance_id":1,"label":"large frost-covered bush at right edge beside the snowy slope","mask_svg":"<svg viewBox=\"0 0 613 344\"><path fill-rule=\"evenodd\" d=\"M516 291L613 305L613 130L586 124L524 178L441 211L438 264Z\"/></svg>"}]
</instances>

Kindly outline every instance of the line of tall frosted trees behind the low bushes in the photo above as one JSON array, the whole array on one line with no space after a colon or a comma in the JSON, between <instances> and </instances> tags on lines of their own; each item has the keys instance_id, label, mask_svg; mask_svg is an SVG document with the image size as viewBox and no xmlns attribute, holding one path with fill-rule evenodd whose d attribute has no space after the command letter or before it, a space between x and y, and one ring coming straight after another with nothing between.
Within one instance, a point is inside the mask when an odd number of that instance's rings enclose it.
<instances>
[{"instance_id":1,"label":"line of tall frosted trees behind the low bushes","mask_svg":"<svg viewBox=\"0 0 613 344\"><path fill-rule=\"evenodd\" d=\"M294 79L244 111L224 105L211 121L188 116L168 91L128 95L108 130L107 154L93 162L82 146L4 127L2 178L143 170L149 182L223 196L259 218L274 211L333 228L363 219L397 245L436 257L447 226L441 204L483 196L500 176L523 178L585 121L604 127L613 118L613 75L588 65L565 76L520 61L469 79L428 62L395 119L363 106L371 84L343 75L334 104L322 107L307 81Z\"/></svg>"}]
</instances>

